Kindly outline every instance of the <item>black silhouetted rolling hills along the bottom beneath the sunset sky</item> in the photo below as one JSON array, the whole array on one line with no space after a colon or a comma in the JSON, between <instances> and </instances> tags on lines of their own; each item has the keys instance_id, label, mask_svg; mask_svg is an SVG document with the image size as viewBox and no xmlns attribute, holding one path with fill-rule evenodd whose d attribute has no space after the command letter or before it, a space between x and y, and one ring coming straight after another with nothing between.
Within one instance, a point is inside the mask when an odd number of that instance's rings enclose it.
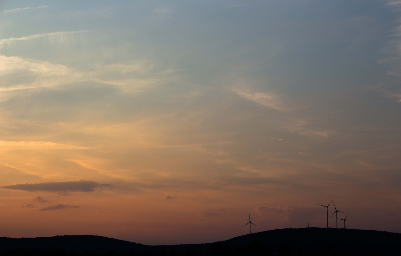
<instances>
[{"instance_id":1,"label":"black silhouetted rolling hills along the bottom beneath the sunset sky","mask_svg":"<svg viewBox=\"0 0 401 256\"><path fill-rule=\"evenodd\" d=\"M147 246L102 236L0 238L0 256L14 255L401 256L401 234L374 230L289 228L239 236L211 244L171 246Z\"/></svg>"}]
</instances>

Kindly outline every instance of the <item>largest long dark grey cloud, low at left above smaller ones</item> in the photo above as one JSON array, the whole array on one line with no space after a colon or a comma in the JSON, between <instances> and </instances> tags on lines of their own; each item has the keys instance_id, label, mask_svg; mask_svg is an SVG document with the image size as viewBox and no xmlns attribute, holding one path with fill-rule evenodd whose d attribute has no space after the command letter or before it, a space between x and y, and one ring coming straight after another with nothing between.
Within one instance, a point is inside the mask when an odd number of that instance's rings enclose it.
<instances>
[{"instance_id":1,"label":"largest long dark grey cloud, low at left above smaller ones","mask_svg":"<svg viewBox=\"0 0 401 256\"><path fill-rule=\"evenodd\" d=\"M105 184L102 184L104 186ZM109 184L107 184L109 185ZM99 183L94 181L64 181L64 182L43 182L43 183L26 183L1 186L2 189L15 189L23 191L49 191L68 194L67 192L92 192L95 188L100 187Z\"/></svg>"}]
</instances>

